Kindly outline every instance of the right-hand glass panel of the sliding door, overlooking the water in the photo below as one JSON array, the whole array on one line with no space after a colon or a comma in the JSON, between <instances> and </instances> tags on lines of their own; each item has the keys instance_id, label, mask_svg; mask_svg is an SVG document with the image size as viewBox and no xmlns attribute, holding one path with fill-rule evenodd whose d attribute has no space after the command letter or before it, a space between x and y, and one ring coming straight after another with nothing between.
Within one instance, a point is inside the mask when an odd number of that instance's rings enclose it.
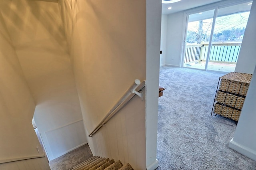
<instances>
[{"instance_id":1,"label":"right-hand glass panel of the sliding door, overlooking the water","mask_svg":"<svg viewBox=\"0 0 256 170\"><path fill-rule=\"evenodd\" d=\"M218 9L208 70L235 70L250 8L250 3L246 2Z\"/></svg>"}]
</instances>

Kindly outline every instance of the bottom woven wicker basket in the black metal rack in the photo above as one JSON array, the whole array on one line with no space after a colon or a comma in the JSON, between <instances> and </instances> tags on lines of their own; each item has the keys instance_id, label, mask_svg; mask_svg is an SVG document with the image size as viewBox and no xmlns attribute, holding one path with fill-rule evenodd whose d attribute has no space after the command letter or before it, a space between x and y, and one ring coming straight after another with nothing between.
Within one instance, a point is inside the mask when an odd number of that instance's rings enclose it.
<instances>
[{"instance_id":1,"label":"bottom woven wicker basket in the black metal rack","mask_svg":"<svg viewBox=\"0 0 256 170\"><path fill-rule=\"evenodd\" d=\"M214 105L214 113L234 121L238 121L241 111L216 103Z\"/></svg>"}]
</instances>

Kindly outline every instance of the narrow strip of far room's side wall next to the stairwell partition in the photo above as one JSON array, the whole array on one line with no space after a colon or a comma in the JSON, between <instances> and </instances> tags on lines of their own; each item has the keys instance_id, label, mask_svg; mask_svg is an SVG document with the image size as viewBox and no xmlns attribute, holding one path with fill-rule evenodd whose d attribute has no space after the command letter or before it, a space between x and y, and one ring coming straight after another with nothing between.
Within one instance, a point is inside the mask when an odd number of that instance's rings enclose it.
<instances>
[{"instance_id":1,"label":"narrow strip of far room's side wall next to the stairwell partition","mask_svg":"<svg viewBox=\"0 0 256 170\"><path fill-rule=\"evenodd\" d=\"M160 67L164 66L166 63L167 23L168 23L168 15L163 14L162 20L161 20L160 50L162 51L162 54L160 54Z\"/></svg>"}]
</instances>

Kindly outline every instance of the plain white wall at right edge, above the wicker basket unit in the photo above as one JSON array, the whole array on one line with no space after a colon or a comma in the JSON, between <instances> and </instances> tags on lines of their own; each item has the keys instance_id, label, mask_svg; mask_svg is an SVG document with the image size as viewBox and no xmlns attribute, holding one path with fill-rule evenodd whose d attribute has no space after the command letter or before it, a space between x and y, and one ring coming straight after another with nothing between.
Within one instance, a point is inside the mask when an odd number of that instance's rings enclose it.
<instances>
[{"instance_id":1,"label":"plain white wall at right edge, above the wicker basket unit","mask_svg":"<svg viewBox=\"0 0 256 170\"><path fill-rule=\"evenodd\" d=\"M256 65L256 47L255 47L255 28L256 28L256 1L253 1L250 16L244 33L238 61L236 63L236 72L252 74Z\"/></svg>"}]
</instances>

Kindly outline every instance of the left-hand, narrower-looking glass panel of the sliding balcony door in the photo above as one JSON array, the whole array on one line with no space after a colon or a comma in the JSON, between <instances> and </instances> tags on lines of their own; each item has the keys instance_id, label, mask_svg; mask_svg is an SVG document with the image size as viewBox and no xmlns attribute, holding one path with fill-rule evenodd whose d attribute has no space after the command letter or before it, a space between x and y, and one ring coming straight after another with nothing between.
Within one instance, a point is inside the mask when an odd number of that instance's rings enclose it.
<instances>
[{"instance_id":1,"label":"left-hand, narrower-looking glass panel of the sliding balcony door","mask_svg":"<svg viewBox=\"0 0 256 170\"><path fill-rule=\"evenodd\" d=\"M206 69L214 10L190 14L187 22L183 67Z\"/></svg>"}]
</instances>

